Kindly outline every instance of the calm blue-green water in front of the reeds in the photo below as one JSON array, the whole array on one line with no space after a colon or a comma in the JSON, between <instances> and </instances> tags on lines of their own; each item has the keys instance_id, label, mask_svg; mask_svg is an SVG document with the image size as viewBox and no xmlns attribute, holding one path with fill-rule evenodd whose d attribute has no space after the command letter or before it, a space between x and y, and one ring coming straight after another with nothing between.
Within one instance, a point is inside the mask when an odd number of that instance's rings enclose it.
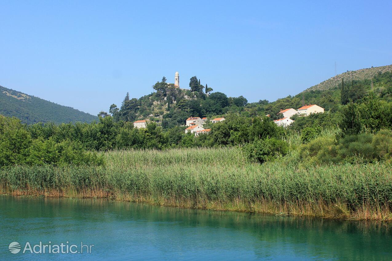
<instances>
[{"instance_id":1,"label":"calm blue-green water in front of the reeds","mask_svg":"<svg viewBox=\"0 0 392 261\"><path fill-rule=\"evenodd\" d=\"M392 260L391 227L100 199L0 196L0 260ZM22 246L18 254L8 250L13 241ZM94 247L90 254L22 253L26 242L33 247L40 241Z\"/></svg>"}]
</instances>

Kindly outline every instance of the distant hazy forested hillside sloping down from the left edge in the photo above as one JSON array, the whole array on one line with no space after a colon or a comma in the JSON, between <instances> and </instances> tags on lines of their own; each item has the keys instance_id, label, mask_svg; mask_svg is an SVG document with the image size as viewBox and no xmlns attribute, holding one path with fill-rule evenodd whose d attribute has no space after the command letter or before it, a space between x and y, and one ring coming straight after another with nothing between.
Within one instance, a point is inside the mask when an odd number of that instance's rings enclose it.
<instances>
[{"instance_id":1,"label":"distant hazy forested hillside sloping down from the left edge","mask_svg":"<svg viewBox=\"0 0 392 261\"><path fill-rule=\"evenodd\" d=\"M36 122L92 122L98 117L71 107L62 106L38 97L0 86L0 114L17 117L23 123Z\"/></svg>"}]
</instances>

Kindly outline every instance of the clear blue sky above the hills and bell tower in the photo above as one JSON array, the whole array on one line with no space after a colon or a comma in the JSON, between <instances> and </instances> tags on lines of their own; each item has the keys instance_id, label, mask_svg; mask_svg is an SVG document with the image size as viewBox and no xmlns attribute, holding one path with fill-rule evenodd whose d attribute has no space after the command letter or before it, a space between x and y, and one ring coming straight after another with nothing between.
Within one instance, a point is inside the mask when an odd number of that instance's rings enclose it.
<instances>
[{"instance_id":1,"label":"clear blue sky above the hills and bell tower","mask_svg":"<svg viewBox=\"0 0 392 261\"><path fill-rule=\"evenodd\" d=\"M96 115L176 71L254 102L392 64L390 0L186 2L0 0L0 85Z\"/></svg>"}]
</instances>

